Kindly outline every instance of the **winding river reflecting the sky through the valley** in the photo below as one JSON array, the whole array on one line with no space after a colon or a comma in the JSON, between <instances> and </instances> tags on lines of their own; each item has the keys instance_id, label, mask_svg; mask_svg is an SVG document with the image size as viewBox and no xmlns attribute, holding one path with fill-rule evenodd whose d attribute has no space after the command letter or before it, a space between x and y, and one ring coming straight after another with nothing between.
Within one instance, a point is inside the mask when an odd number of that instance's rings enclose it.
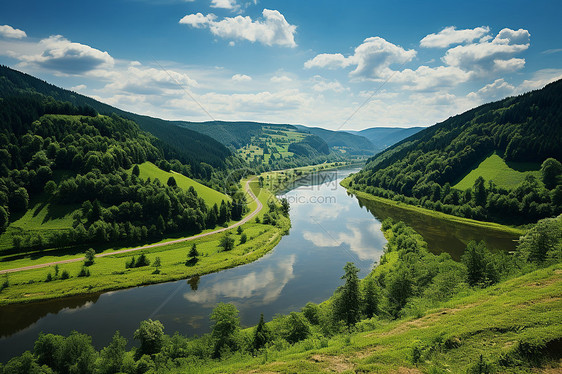
<instances>
[{"instance_id":1,"label":"winding river reflecting the sky through the valley","mask_svg":"<svg viewBox=\"0 0 562 374\"><path fill-rule=\"evenodd\" d=\"M243 326L275 314L322 302L342 284L343 266L351 261L364 277L386 243L380 220L390 216L411 224L430 250L458 258L466 242L485 240L503 250L511 236L484 229L448 227L384 204L358 200L339 185L357 170L335 170L306 177L283 195L291 204L290 233L258 261L200 278L103 294L0 307L0 362L33 349L40 332L68 335L77 330L105 346L116 330L132 342L140 321L160 320L165 332L193 336L209 331L209 314L219 302L240 310Z\"/></svg>"}]
</instances>

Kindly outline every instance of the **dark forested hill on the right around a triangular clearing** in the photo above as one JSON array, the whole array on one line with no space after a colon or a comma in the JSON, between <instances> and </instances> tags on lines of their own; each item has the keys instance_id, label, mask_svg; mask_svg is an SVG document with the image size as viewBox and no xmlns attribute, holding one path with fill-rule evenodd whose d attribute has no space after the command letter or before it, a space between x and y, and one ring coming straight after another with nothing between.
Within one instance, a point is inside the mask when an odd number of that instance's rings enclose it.
<instances>
[{"instance_id":1,"label":"dark forested hill on the right around a triangular clearing","mask_svg":"<svg viewBox=\"0 0 562 374\"><path fill-rule=\"evenodd\" d=\"M561 144L562 81L557 81L422 130L372 157L351 183L459 216L532 222L562 210ZM499 169L480 170L493 154L508 173L522 175L522 183L506 188L495 178ZM472 188L452 188L474 169L481 173Z\"/></svg>"}]
</instances>

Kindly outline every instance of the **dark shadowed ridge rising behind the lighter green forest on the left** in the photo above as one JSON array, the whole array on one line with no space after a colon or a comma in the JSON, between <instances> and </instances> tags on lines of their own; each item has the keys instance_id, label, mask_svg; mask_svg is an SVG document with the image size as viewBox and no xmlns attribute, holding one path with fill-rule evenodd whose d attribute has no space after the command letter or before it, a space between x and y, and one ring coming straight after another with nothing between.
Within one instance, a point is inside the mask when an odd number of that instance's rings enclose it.
<instances>
[{"instance_id":1,"label":"dark shadowed ridge rising behind the lighter green forest on the left","mask_svg":"<svg viewBox=\"0 0 562 374\"><path fill-rule=\"evenodd\" d=\"M206 173L201 168L202 162L213 168L224 169L227 158L232 155L223 144L204 134L175 126L162 119L126 112L9 67L0 66L0 98L29 97L37 94L52 97L56 101L69 102L77 107L91 107L100 114L116 113L135 121L141 129L159 139L158 147L164 150L167 158L175 158L189 164L192 171L203 178Z\"/></svg>"}]
</instances>

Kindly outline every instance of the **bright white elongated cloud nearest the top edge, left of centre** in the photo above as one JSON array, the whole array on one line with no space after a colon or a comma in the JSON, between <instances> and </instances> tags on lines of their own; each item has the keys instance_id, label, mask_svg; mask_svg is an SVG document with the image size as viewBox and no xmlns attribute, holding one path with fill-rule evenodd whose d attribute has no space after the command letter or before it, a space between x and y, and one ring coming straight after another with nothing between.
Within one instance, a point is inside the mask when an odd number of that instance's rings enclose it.
<instances>
[{"instance_id":1,"label":"bright white elongated cloud nearest the top edge, left of centre","mask_svg":"<svg viewBox=\"0 0 562 374\"><path fill-rule=\"evenodd\" d=\"M224 39L248 40L268 46L296 47L297 27L287 22L277 10L264 9L263 19L252 20L248 16L226 17L217 21L214 14L188 14L180 23L196 28L207 27L215 36Z\"/></svg>"}]
</instances>

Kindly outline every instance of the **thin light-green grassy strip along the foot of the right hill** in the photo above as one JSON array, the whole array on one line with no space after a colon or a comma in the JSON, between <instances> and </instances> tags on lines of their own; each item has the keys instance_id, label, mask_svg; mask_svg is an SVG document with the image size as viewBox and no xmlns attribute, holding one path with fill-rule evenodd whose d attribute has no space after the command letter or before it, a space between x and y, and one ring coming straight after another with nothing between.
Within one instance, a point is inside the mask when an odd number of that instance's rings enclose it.
<instances>
[{"instance_id":1,"label":"thin light-green grassy strip along the foot of the right hill","mask_svg":"<svg viewBox=\"0 0 562 374\"><path fill-rule=\"evenodd\" d=\"M390 200L390 199L385 199L383 197L374 196L374 195L368 194L366 192L357 191L357 190L349 187L349 181L350 181L350 178L348 177L348 178L345 178L344 180L342 180L340 182L340 184L341 184L342 187L344 187L348 191L348 193L353 194L353 195L355 195L359 198L365 199L365 200L376 201L378 203L382 203L382 204L385 204L385 205L388 205L388 206L396 207L396 208L399 208L399 209L402 209L402 210L405 210L405 211L415 212L415 213L418 213L418 214L423 214L425 216L437 218L437 219L440 219L440 220L458 223L458 224L463 224L463 225L468 225L468 226L472 226L472 227L476 227L476 228L485 228L487 230L493 230L493 231L497 231L497 232L503 232L503 233L518 235L518 236L525 234L525 230L523 230L521 228L506 226L506 225L502 225L502 224L495 223L495 222L477 221L477 220L470 219L470 218L457 217L457 216L453 216L453 215L446 214L446 213L443 213L443 212L438 212L438 211L435 211L435 210L430 210L430 209L422 208L422 207L419 207L419 206L405 204L401 201L394 201L394 200Z\"/></svg>"}]
</instances>

